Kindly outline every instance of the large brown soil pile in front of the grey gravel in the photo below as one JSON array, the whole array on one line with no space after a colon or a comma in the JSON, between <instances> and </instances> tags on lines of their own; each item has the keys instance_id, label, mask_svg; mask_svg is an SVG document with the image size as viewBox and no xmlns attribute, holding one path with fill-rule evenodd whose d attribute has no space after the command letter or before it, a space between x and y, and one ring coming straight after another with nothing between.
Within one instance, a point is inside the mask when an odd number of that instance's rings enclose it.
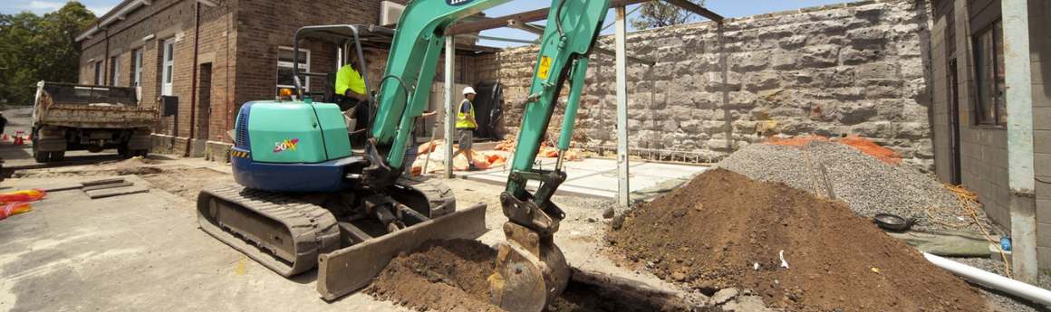
<instances>
[{"instance_id":1,"label":"large brown soil pile in front of the grey gravel","mask_svg":"<svg viewBox=\"0 0 1051 312\"><path fill-rule=\"evenodd\" d=\"M976 289L842 203L725 169L618 216L606 240L665 280L751 290L772 308L988 310Z\"/></svg>"}]
</instances>

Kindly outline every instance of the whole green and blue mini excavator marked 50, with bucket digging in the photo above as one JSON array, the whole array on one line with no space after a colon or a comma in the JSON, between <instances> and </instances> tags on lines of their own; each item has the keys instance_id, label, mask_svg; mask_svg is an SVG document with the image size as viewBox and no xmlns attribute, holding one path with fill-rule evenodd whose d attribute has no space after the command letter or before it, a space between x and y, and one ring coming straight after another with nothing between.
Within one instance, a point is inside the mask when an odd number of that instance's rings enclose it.
<instances>
[{"instance_id":1,"label":"whole green and blue mini excavator marked 50, with bucket digging","mask_svg":"<svg viewBox=\"0 0 1051 312\"><path fill-rule=\"evenodd\" d=\"M509 1L409 1L393 30L363 25L302 28L296 49L301 35L321 34L356 53L358 62L363 41L392 35L378 95L369 101L373 109L368 139L356 147L362 152L352 150L336 104L302 100L295 72L293 93L298 100L242 106L230 149L238 185L201 192L201 228L285 276L317 266L317 289L326 299L367 286L398 252L426 240L483 232L485 205L457 210L444 184L401 173L411 166L405 163L410 133L424 112L446 29ZM570 90L558 149L569 148L589 56L610 0L553 0L551 7L529 97L520 104L526 108L517 152L507 189L499 195L508 217L502 227L507 238L497 246L497 269L489 282L492 303L509 311L542 310L570 279L553 240L565 216L551 201L566 178L561 157L554 170L533 164L565 85ZM365 67L364 62L359 65ZM367 72L363 75L371 89ZM539 182L535 192L526 190L529 181Z\"/></svg>"}]
</instances>

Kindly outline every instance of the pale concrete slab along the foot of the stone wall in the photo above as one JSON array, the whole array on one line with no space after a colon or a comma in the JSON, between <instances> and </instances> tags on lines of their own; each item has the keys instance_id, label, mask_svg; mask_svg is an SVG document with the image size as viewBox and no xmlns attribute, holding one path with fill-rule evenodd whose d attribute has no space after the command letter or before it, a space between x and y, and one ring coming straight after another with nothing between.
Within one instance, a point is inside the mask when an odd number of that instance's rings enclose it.
<instances>
[{"instance_id":1,"label":"pale concrete slab along the foot of the stone wall","mask_svg":"<svg viewBox=\"0 0 1051 312\"><path fill-rule=\"evenodd\" d=\"M541 169L554 169L555 159L540 159L536 166ZM689 164L671 164L637 161L630 163L628 187L633 193L653 189L669 181L687 182L697 174L707 170L707 166ZM598 199L616 199L618 188L617 161L606 158L584 158L579 161L564 163L566 180L558 188L557 194L577 195ZM461 179L479 181L496 185L508 183L509 169L493 168L481 171L456 171ZM440 173L438 173L440 174ZM537 182L530 182L529 188L536 189Z\"/></svg>"}]
</instances>

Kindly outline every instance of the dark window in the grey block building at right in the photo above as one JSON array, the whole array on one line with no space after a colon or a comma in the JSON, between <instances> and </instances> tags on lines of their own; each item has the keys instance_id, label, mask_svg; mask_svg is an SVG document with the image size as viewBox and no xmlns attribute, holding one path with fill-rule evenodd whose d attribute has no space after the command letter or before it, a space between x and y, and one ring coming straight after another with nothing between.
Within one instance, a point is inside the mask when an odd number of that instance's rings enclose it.
<instances>
[{"instance_id":1,"label":"dark window in the grey block building at right","mask_svg":"<svg viewBox=\"0 0 1051 312\"><path fill-rule=\"evenodd\" d=\"M974 65L977 78L977 101L974 119L978 125L1003 127L1007 123L1007 101L1004 98L1004 28L996 21L974 37Z\"/></svg>"}]
</instances>

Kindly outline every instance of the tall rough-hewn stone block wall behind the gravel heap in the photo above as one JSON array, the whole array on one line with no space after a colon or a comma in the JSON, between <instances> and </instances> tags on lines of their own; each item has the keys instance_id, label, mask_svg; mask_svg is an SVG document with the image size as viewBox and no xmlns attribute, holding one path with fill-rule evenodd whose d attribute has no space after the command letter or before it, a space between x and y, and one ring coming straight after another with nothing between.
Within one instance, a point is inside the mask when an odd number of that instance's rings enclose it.
<instances>
[{"instance_id":1,"label":"tall rough-hewn stone block wall behind the gravel heap","mask_svg":"<svg viewBox=\"0 0 1051 312\"><path fill-rule=\"evenodd\" d=\"M631 33L628 55L657 63L628 63L631 145L716 161L775 134L858 134L930 169L927 9L923 0L865 1L726 20L726 105L716 23ZM613 40L599 45L613 49ZM517 131L537 51L511 48L472 64L474 84L506 85L504 133ZM616 145L615 70L613 57L592 56L578 147ZM560 109L549 133L559 130Z\"/></svg>"}]
</instances>

